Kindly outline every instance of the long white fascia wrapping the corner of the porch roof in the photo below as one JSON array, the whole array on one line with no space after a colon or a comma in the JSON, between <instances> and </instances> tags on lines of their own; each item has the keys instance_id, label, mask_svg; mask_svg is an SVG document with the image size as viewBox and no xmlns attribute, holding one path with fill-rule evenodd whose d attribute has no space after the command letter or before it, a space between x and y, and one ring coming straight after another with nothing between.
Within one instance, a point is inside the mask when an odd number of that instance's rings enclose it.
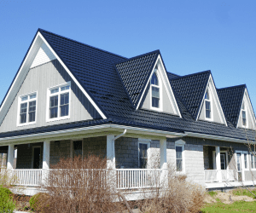
<instances>
[{"instance_id":1,"label":"long white fascia wrapping the corner of the porch roof","mask_svg":"<svg viewBox=\"0 0 256 213\"><path fill-rule=\"evenodd\" d=\"M29 139L33 137L45 137L50 135L60 135L60 134L67 134L67 133L79 133L80 131L86 131L86 130L106 130L106 129L113 129L113 130L130 130L132 131L138 131L143 134L147 135L159 135L161 137L167 137L167 138L173 138L173 137L183 137L185 134L183 133L177 133L177 132L168 132L168 131L162 131L162 130L149 130L149 129L143 129L143 128L137 128L137 127L131 127L131 126L125 126L125 125L118 125L118 124L102 124L102 125L96 125L96 126L89 126L89 127L82 127L82 128L76 128L76 129L69 129L69 130L59 130L59 131L52 131L52 132L44 132L44 133L38 133L38 134L31 134L31 135L19 135L19 136L11 136L11 137L5 137L0 138L0 145L1 141L9 141L9 140L24 140ZM93 136L93 135L92 135Z\"/></svg>"}]
</instances>

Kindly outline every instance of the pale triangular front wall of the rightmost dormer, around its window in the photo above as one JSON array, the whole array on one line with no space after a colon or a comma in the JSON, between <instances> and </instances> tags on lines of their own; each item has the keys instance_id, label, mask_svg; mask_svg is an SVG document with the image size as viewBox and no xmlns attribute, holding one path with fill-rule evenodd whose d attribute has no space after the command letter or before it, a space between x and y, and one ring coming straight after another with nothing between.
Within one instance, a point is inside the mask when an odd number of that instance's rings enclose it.
<instances>
[{"instance_id":1,"label":"pale triangular front wall of the rightmost dormer, around its window","mask_svg":"<svg viewBox=\"0 0 256 213\"><path fill-rule=\"evenodd\" d=\"M246 108L246 112L247 112L247 126L246 126L246 128L251 129L251 130L255 130L256 119L255 119L255 114L253 112L253 106L252 106L247 88L245 88L245 90L244 90L244 94L243 94L241 104L243 102L245 103L245 108ZM240 107L239 117L238 117L236 127L243 127L241 125L241 118L242 118L242 113L241 113L241 107Z\"/></svg>"}]
</instances>

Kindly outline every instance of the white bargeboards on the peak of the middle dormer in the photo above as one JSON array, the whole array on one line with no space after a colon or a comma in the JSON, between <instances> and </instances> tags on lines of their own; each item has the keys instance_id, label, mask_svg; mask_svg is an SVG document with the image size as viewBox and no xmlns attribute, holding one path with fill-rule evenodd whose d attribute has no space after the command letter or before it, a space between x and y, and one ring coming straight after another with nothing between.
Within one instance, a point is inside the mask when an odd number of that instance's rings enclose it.
<instances>
[{"instance_id":1,"label":"white bargeboards on the peak of the middle dormer","mask_svg":"<svg viewBox=\"0 0 256 213\"><path fill-rule=\"evenodd\" d=\"M202 98L202 100L201 100L201 106L200 106L200 110L199 110L198 113L197 113L196 121L198 120L198 118L199 118L199 116L200 116L201 107L203 106L203 102L205 101L205 95L206 95L206 92L207 92L208 87L210 86L210 81L212 81L212 88L211 88L211 91L212 91L212 93L214 93L214 95L212 94L212 97L213 97L213 100L212 100L212 101L215 101L215 103L216 103L215 105L216 105L216 107L217 107L218 115L220 116L220 118L222 118L224 124L225 124L226 126L228 126L227 121L226 121L226 118L225 118L225 116L224 116L223 109L222 109L221 104L220 104L220 101L219 101L219 99L218 99L218 93L217 93L216 88L215 88L215 85L214 85L214 83L213 83L212 74L210 74L210 77L209 77L209 79L208 79L207 88L206 88L206 90L205 90L205 92L204 92L204 95L203 95L203 98ZM217 98L217 100L216 100L215 97Z\"/></svg>"}]
</instances>

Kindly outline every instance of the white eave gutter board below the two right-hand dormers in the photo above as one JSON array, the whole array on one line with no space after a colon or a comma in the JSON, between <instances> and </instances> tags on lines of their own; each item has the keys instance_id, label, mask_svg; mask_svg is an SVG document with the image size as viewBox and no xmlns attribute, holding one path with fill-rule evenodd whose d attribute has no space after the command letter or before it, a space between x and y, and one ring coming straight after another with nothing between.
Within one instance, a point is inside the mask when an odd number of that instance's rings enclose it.
<instances>
[{"instance_id":1,"label":"white eave gutter board below the two right-hand dormers","mask_svg":"<svg viewBox=\"0 0 256 213\"><path fill-rule=\"evenodd\" d=\"M207 135L207 134L201 134L201 133L195 133L195 132L185 131L185 134L190 137L199 137L199 138L213 139L213 140L218 140L218 141L230 141L230 142L246 143L246 144L256 143L255 141L241 140L241 139L236 139L236 138L232 138L232 137L224 137L224 136L218 136L218 135Z\"/></svg>"}]
</instances>

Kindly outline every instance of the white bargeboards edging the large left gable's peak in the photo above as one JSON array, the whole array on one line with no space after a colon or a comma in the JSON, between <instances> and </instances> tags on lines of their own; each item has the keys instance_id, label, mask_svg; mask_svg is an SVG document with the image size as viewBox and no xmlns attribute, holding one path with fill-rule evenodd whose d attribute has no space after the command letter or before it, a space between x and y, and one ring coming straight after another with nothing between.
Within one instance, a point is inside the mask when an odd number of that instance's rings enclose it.
<instances>
[{"instance_id":1,"label":"white bargeboards edging the large left gable's peak","mask_svg":"<svg viewBox=\"0 0 256 213\"><path fill-rule=\"evenodd\" d=\"M71 78L73 78L73 81L79 86L79 89L84 93L84 95L87 97L87 99L90 101L90 103L93 105L93 107L96 108L96 111L99 112L99 114L102 116L102 118L107 118L106 113L103 112L103 110L96 105L96 101L93 100L93 97L89 95L88 91L85 91L84 86L79 82L79 79L76 78L71 72L69 68L67 68L66 64L61 60L60 56L57 55L53 47L50 45L50 43L47 41L44 35L44 31L41 29L38 29L38 32L36 36L34 37L32 44L30 48L28 49L26 56L24 60L22 61L20 68L18 72L15 75L15 78L12 82L12 84L9 87L9 90L7 94L5 95L3 102L0 107L0 124L3 122L3 118L5 118L6 113L9 111L9 107L11 106L12 102L15 100L15 96L17 92L20 89L21 84L24 82L24 79L26 78L26 74L29 72L30 67L32 66L32 62L34 61L38 50L44 45L47 46L47 48L51 51L52 55L55 56L57 60L61 63L61 66L65 68L67 73L70 75Z\"/></svg>"}]
</instances>

